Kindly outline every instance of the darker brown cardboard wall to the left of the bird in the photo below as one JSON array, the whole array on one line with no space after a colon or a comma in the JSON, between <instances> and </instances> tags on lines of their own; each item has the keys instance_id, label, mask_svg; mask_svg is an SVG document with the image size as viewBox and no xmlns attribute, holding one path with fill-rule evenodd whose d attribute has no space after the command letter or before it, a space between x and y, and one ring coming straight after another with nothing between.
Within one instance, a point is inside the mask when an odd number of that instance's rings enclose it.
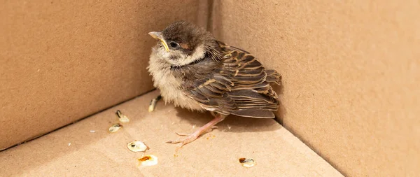
<instances>
[{"instance_id":1,"label":"darker brown cardboard wall to the left of the bird","mask_svg":"<svg viewBox=\"0 0 420 177\"><path fill-rule=\"evenodd\" d=\"M151 90L147 33L184 2L0 1L0 149Z\"/></svg>"}]
</instances>

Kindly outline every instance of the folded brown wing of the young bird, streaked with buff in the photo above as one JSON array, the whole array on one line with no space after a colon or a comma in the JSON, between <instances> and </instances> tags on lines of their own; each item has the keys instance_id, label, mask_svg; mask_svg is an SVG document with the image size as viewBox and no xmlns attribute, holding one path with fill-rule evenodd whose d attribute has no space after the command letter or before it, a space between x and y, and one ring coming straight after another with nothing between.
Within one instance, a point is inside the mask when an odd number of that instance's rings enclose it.
<instances>
[{"instance_id":1,"label":"folded brown wing of the young bird, streaked with buff","mask_svg":"<svg viewBox=\"0 0 420 177\"><path fill-rule=\"evenodd\" d=\"M270 83L280 83L281 76L266 70L251 54L228 45L223 66L209 78L195 80L185 93L209 111L251 118L274 118L279 107L277 94ZM226 48L229 47L229 48Z\"/></svg>"}]
</instances>

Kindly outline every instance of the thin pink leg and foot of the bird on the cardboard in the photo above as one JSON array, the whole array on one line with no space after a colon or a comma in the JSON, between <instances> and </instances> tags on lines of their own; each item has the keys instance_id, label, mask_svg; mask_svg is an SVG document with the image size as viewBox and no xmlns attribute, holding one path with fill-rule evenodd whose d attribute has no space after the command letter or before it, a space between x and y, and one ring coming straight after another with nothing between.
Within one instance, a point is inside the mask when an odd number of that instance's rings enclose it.
<instances>
[{"instance_id":1,"label":"thin pink leg and foot of the bird on the cardboard","mask_svg":"<svg viewBox=\"0 0 420 177\"><path fill-rule=\"evenodd\" d=\"M181 143L181 147L182 147L186 145L187 143L191 143L195 141L195 139L197 139L198 136L205 134L207 132L211 132L211 130L215 127L214 125L216 125L218 122L223 121L226 118L226 116L228 116L228 115L223 115L220 113L211 113L211 114L214 115L213 120L211 120L209 123L207 123L203 127L200 127L200 129L197 129L195 132L193 132L193 134L189 134L188 137L184 139L183 141L168 141L167 143L172 143L172 144ZM178 134L178 135L183 136L185 134Z\"/></svg>"}]
</instances>

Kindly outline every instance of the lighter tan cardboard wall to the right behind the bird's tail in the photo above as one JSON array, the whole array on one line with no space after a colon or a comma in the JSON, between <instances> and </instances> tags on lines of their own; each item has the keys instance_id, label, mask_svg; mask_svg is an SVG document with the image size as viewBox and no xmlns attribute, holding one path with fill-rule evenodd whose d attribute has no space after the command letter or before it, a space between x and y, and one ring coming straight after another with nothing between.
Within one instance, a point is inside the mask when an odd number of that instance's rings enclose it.
<instances>
[{"instance_id":1,"label":"lighter tan cardboard wall to the right behind the bird's tail","mask_svg":"<svg viewBox=\"0 0 420 177\"><path fill-rule=\"evenodd\" d=\"M283 125L346 176L420 174L419 1L215 1L214 34L283 76Z\"/></svg>"}]
</instances>

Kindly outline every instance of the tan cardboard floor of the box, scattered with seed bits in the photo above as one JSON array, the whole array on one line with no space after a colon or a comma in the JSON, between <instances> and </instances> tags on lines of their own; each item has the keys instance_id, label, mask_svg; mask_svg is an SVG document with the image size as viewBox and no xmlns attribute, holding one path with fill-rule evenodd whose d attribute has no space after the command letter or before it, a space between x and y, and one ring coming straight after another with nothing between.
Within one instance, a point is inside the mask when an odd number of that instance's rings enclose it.
<instances>
[{"instance_id":1,"label":"tan cardboard floor of the box, scattered with seed bits","mask_svg":"<svg viewBox=\"0 0 420 177\"><path fill-rule=\"evenodd\" d=\"M165 141L177 139L174 132L189 133L194 125L206 124L211 115L163 102L148 113L156 95L146 94L1 152L1 176L342 176L272 119L228 117L176 153L176 146ZM117 110L130 122L110 134L107 129L118 122ZM157 156L158 165L139 167L143 153L127 149L133 140L144 141L151 148L145 154ZM257 165L246 169L240 157L253 158Z\"/></svg>"}]
</instances>

